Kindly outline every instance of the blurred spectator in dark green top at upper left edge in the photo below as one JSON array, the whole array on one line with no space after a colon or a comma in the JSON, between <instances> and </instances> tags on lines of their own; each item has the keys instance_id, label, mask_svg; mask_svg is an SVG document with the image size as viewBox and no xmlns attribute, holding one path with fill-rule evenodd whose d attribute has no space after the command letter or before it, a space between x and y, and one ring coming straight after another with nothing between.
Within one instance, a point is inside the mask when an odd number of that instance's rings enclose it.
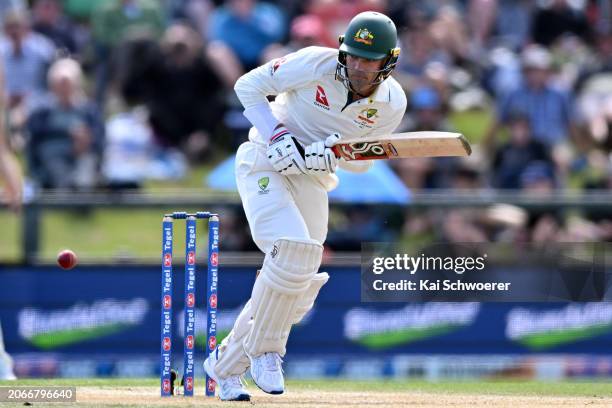
<instances>
[{"instance_id":1,"label":"blurred spectator in dark green top at upper left edge","mask_svg":"<svg viewBox=\"0 0 612 408\"><path fill-rule=\"evenodd\" d=\"M161 37L164 18L161 5L149 0L109 0L92 16L92 37L96 47L95 99L103 104L114 50L136 35Z\"/></svg>"}]
</instances>

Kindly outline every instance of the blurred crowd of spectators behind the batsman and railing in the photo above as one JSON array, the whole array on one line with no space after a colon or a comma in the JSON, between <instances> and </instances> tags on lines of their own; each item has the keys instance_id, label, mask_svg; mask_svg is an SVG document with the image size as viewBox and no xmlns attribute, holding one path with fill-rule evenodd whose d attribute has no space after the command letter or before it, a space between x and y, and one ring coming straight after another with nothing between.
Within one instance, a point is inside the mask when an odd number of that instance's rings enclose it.
<instances>
[{"instance_id":1,"label":"blurred crowd of spectators behind the batsman and railing","mask_svg":"<svg viewBox=\"0 0 612 408\"><path fill-rule=\"evenodd\" d=\"M232 91L240 75L302 47L336 47L366 10L398 27L393 75L409 102L398 131L461 123L479 141L468 159L392 161L412 191L612 188L609 0L5 0L8 145L36 188L123 190L185 177L246 139ZM490 217L500 211L509 215ZM392 218L394 227L383 212L336 214L330 246L403 234L612 237L601 214L505 207ZM247 241L236 238L235 249Z\"/></svg>"}]
</instances>

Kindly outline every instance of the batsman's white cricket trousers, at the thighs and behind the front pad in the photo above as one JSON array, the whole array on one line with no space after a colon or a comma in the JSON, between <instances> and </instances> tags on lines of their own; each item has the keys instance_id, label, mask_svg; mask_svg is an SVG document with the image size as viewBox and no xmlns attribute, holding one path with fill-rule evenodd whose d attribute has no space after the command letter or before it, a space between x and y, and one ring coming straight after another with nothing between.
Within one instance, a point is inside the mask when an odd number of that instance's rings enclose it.
<instances>
[{"instance_id":1,"label":"batsman's white cricket trousers, at the thighs and behind the front pad","mask_svg":"<svg viewBox=\"0 0 612 408\"><path fill-rule=\"evenodd\" d=\"M236 153L236 183L253 241L268 253L282 237L310 238L321 244L327 236L327 191L306 175L280 175L266 157L266 148L245 142ZM250 330L247 302L232 332L220 346L215 372L221 378L242 375L249 367L243 340Z\"/></svg>"}]
</instances>

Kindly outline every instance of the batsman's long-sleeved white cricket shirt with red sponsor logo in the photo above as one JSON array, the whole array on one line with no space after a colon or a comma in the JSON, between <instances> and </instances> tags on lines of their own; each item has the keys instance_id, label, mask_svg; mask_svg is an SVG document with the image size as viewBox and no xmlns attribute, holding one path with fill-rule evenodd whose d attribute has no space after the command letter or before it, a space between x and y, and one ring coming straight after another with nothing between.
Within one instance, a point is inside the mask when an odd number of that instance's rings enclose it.
<instances>
[{"instance_id":1,"label":"batsman's long-sleeved white cricket shirt with red sponsor logo","mask_svg":"<svg viewBox=\"0 0 612 408\"><path fill-rule=\"evenodd\" d=\"M266 96L276 95L270 104L274 117L304 146L332 133L343 138L392 133L406 111L400 85L389 77L370 97L347 105L348 90L335 79L337 58L337 49L303 48L248 72L234 89L245 108L267 103ZM255 128L249 139L268 143Z\"/></svg>"}]
</instances>

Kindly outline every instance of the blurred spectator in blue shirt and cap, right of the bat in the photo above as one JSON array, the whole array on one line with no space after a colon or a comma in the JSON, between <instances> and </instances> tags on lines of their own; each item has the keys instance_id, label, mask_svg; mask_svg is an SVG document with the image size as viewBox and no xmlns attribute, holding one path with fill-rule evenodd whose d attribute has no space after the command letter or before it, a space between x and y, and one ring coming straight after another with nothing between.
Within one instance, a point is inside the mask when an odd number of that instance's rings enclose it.
<instances>
[{"instance_id":1,"label":"blurred spectator in blue shirt and cap, right of the bat","mask_svg":"<svg viewBox=\"0 0 612 408\"><path fill-rule=\"evenodd\" d=\"M500 126L508 123L514 112L526 112L533 139L549 148L576 137L574 113L570 95L550 83L551 56L538 45L527 47L522 55L524 83L502 98L497 118L485 136L484 144L491 148Z\"/></svg>"}]
</instances>

